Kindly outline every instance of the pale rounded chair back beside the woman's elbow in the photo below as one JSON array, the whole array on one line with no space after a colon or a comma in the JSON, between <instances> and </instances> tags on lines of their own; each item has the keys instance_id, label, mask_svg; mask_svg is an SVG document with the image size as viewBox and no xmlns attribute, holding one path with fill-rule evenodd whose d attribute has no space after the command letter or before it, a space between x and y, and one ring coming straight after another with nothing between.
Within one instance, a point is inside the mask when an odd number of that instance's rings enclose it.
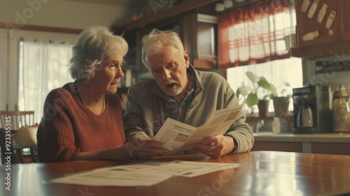
<instances>
[{"instance_id":1,"label":"pale rounded chair back beside the woman's elbow","mask_svg":"<svg viewBox=\"0 0 350 196\"><path fill-rule=\"evenodd\" d=\"M20 127L11 137L12 148L31 148L37 146L36 132L38 127Z\"/></svg>"}]
</instances>

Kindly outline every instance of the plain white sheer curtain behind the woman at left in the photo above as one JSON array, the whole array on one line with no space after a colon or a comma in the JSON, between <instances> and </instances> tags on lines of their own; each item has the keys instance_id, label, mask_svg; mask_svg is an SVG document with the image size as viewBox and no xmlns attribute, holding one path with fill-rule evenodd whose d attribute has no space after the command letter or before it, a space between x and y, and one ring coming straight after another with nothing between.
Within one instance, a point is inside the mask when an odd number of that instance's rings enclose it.
<instances>
[{"instance_id":1,"label":"plain white sheer curtain behind the woman at left","mask_svg":"<svg viewBox=\"0 0 350 196\"><path fill-rule=\"evenodd\" d=\"M69 75L71 43L20 40L20 111L35 111L36 122L43 116L43 104L50 90L73 81Z\"/></svg>"}]
</instances>

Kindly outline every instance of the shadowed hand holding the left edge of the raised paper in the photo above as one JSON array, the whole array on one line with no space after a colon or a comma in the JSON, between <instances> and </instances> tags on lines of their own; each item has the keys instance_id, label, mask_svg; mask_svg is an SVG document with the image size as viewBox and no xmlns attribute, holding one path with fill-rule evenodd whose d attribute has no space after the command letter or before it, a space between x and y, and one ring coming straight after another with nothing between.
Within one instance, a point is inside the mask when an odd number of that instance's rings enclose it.
<instances>
[{"instance_id":1,"label":"shadowed hand holding the left edge of the raised paper","mask_svg":"<svg viewBox=\"0 0 350 196\"><path fill-rule=\"evenodd\" d=\"M168 150L161 148L162 146L162 142L144 137L139 137L134 139L134 141L130 141L129 143L125 144L130 158L136 160L149 159L156 155L167 153Z\"/></svg>"}]
</instances>

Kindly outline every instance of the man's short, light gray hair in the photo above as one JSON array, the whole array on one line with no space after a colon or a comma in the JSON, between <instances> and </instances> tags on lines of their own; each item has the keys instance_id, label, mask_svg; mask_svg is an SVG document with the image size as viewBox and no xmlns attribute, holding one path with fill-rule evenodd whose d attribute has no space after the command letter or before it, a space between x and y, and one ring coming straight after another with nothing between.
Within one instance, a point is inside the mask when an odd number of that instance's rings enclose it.
<instances>
[{"instance_id":1,"label":"man's short, light gray hair","mask_svg":"<svg viewBox=\"0 0 350 196\"><path fill-rule=\"evenodd\" d=\"M181 57L183 57L183 43L179 34L174 31L160 31L159 29L153 29L150 34L142 38L142 62L151 70L151 64L148 61L148 57L157 54L167 46L173 46L180 51Z\"/></svg>"}]
</instances>

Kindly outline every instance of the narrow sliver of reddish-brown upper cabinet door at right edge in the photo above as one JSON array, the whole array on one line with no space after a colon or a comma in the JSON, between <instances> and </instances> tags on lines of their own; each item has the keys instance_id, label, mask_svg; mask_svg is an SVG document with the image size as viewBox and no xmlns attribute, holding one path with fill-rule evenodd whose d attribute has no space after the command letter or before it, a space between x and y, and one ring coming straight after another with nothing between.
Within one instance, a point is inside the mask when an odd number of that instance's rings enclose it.
<instances>
[{"instance_id":1,"label":"narrow sliver of reddish-brown upper cabinet door at right edge","mask_svg":"<svg viewBox=\"0 0 350 196\"><path fill-rule=\"evenodd\" d=\"M337 0L339 39L350 40L350 1Z\"/></svg>"}]
</instances>

